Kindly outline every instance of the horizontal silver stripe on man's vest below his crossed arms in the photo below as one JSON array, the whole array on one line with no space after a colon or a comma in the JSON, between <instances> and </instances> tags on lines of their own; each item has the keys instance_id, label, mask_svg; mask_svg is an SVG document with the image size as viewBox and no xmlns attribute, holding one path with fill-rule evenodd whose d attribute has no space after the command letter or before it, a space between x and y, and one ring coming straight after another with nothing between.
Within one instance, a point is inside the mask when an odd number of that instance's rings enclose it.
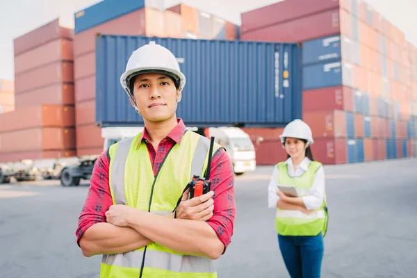
<instances>
[{"instance_id":1,"label":"horizontal silver stripe on man's vest below his crossed arms","mask_svg":"<svg viewBox=\"0 0 417 278\"><path fill-rule=\"evenodd\" d=\"M116 256L106 256L101 260L106 265L117 265L129 268L140 268L144 251L136 250ZM172 272L215 272L214 262L201 260L197 256L183 256L156 250L147 250L145 265L148 268L158 268Z\"/></svg>"}]
</instances>

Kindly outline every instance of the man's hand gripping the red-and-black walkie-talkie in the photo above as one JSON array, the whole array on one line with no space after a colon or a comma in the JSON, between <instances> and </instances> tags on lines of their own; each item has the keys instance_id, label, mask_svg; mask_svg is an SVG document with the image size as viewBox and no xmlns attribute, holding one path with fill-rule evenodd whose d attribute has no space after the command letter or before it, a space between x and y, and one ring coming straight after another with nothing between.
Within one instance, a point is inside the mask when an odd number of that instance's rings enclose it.
<instances>
[{"instance_id":1,"label":"man's hand gripping the red-and-black walkie-talkie","mask_svg":"<svg viewBox=\"0 0 417 278\"><path fill-rule=\"evenodd\" d=\"M186 190L183 193L181 203L177 207L177 218L188 220L207 221L213 216L214 200L213 191L188 199L188 193L190 190Z\"/></svg>"}]
</instances>

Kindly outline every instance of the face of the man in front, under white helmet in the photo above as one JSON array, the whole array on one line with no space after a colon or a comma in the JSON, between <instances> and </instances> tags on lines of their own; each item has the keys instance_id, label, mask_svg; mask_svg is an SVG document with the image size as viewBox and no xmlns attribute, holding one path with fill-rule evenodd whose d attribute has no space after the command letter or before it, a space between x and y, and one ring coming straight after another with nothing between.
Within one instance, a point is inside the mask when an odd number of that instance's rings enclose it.
<instances>
[{"instance_id":1,"label":"face of the man in front, under white helmet","mask_svg":"<svg viewBox=\"0 0 417 278\"><path fill-rule=\"evenodd\" d=\"M181 92L165 74L140 74L134 83L133 98L145 120L161 122L175 117Z\"/></svg>"}]
</instances>

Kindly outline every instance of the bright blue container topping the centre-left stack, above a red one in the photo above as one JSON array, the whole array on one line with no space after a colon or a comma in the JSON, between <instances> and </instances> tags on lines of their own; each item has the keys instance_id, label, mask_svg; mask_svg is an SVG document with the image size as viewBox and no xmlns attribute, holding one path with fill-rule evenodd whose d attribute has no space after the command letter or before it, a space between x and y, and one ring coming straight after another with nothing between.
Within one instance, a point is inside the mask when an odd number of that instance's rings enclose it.
<instances>
[{"instance_id":1,"label":"bright blue container topping the centre-left stack, above a red one","mask_svg":"<svg viewBox=\"0 0 417 278\"><path fill-rule=\"evenodd\" d=\"M145 7L145 0L104 0L74 14L74 33L109 22Z\"/></svg>"}]
</instances>

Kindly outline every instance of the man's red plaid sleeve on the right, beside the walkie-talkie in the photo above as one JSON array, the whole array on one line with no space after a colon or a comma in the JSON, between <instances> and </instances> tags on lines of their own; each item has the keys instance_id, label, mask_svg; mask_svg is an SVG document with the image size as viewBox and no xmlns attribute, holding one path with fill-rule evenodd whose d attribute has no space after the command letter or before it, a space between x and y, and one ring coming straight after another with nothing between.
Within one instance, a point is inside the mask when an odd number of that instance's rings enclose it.
<instances>
[{"instance_id":1,"label":"man's red plaid sleeve on the right, beside the walkie-talkie","mask_svg":"<svg viewBox=\"0 0 417 278\"><path fill-rule=\"evenodd\" d=\"M234 231L236 206L234 198L234 172L227 152L220 149L211 161L211 190L214 191L213 217L207 223L224 244L224 252Z\"/></svg>"}]
</instances>

